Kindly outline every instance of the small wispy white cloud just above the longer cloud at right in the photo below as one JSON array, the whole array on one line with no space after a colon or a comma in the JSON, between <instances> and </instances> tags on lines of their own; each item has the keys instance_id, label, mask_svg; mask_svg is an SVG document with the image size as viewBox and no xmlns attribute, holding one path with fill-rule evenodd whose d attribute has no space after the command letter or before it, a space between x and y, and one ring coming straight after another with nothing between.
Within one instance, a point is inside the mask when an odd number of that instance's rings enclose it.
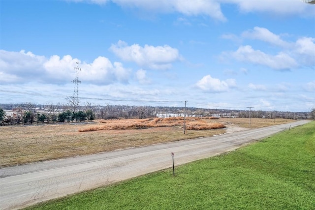
<instances>
[{"instance_id":1,"label":"small wispy white cloud just above the longer cloud at right","mask_svg":"<svg viewBox=\"0 0 315 210\"><path fill-rule=\"evenodd\" d=\"M242 33L245 38L258 39L273 45L288 47L289 43L281 39L279 35L272 33L270 30L260 27L254 27L253 30L247 30Z\"/></svg>"}]
</instances>

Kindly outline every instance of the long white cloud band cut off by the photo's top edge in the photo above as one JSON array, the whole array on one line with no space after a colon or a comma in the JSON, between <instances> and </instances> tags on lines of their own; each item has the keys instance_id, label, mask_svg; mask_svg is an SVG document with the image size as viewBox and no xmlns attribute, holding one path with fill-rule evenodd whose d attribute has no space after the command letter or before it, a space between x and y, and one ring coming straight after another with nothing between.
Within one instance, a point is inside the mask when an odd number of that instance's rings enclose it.
<instances>
[{"instance_id":1,"label":"long white cloud band cut off by the photo's top edge","mask_svg":"<svg viewBox=\"0 0 315 210\"><path fill-rule=\"evenodd\" d=\"M110 0L72 0L104 5ZM315 7L299 0L111 0L123 8L136 9L148 14L181 13L187 16L203 15L226 21L221 4L235 4L240 12L260 12L273 15L315 16Z\"/></svg>"}]
</instances>

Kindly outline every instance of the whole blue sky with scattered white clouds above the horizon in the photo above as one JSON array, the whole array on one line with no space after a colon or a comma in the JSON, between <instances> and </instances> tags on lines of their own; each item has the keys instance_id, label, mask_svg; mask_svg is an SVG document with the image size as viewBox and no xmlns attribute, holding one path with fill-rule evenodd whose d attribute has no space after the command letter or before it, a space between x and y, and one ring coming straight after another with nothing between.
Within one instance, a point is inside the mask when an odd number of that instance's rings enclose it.
<instances>
[{"instance_id":1,"label":"whole blue sky with scattered white clouds above the horizon","mask_svg":"<svg viewBox=\"0 0 315 210\"><path fill-rule=\"evenodd\" d=\"M310 111L315 5L0 0L0 103Z\"/></svg>"}]
</instances>

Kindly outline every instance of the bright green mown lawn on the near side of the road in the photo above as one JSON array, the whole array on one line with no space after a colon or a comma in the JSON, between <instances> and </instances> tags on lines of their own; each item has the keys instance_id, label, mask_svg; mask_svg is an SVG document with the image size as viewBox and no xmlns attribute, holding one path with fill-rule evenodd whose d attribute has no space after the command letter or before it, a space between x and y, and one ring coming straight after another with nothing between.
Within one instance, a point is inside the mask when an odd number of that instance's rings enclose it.
<instances>
[{"instance_id":1,"label":"bright green mown lawn on the near side of the road","mask_svg":"<svg viewBox=\"0 0 315 210\"><path fill-rule=\"evenodd\" d=\"M28 209L315 210L315 121L176 167L175 176L163 170Z\"/></svg>"}]
</instances>

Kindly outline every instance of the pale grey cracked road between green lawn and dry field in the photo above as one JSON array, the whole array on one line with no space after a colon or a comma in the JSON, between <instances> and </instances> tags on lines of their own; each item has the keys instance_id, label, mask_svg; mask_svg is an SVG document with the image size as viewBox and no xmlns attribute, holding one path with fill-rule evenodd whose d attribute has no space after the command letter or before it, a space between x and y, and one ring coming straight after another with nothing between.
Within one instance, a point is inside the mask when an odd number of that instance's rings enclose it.
<instances>
[{"instance_id":1,"label":"pale grey cracked road between green lawn and dry field","mask_svg":"<svg viewBox=\"0 0 315 210\"><path fill-rule=\"evenodd\" d=\"M0 169L0 209L19 209L101 185L235 150L280 131L307 123L249 129L129 150L38 162Z\"/></svg>"}]
</instances>

